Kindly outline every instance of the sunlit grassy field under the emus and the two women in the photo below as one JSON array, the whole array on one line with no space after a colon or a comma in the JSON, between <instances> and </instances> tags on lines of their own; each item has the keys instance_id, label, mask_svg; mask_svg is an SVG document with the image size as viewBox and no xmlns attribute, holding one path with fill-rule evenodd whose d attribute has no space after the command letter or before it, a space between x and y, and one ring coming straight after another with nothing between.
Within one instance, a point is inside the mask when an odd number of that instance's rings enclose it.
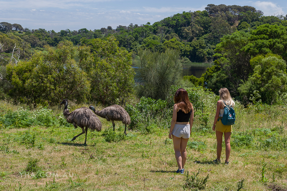
<instances>
[{"instance_id":1,"label":"sunlit grassy field under the emus and the two women","mask_svg":"<svg viewBox=\"0 0 287 191\"><path fill-rule=\"evenodd\" d=\"M183 186L192 182L191 175L199 169L196 178L203 180L208 176L205 190L238 190L242 178L240 190L271 190L272 185L286 189L287 108L243 108L237 103L230 163L226 166L212 163L216 158L216 137L211 130L214 100L203 98L208 120L195 118L184 175L174 173L177 164L172 140L168 139L168 125L154 126L149 133L129 130L123 136L121 122L116 123L114 134L112 124L99 118L102 131L88 132L84 145L84 135L70 141L81 129L65 123L62 110L55 107L29 111L25 106L3 101L0 190L184 190ZM225 148L223 161L224 158Z\"/></svg>"}]
</instances>

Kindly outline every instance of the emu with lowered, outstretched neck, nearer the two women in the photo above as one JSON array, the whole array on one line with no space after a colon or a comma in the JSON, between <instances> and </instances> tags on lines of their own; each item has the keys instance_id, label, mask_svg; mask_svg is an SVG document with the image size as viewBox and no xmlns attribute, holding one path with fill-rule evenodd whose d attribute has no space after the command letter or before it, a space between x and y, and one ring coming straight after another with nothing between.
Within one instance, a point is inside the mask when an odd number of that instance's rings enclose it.
<instances>
[{"instance_id":1,"label":"emu with lowered, outstretched neck, nearer the two women","mask_svg":"<svg viewBox=\"0 0 287 191\"><path fill-rule=\"evenodd\" d=\"M122 121L123 124L125 124L125 134L127 134L127 125L131 124L131 118L129 117L129 114L123 107L119 105L110 105L101 111L96 111L94 106L90 106L90 109L92 109L96 115L106 118L107 121L111 121L113 123L114 131L115 131L115 122L114 121Z\"/></svg>"}]
</instances>

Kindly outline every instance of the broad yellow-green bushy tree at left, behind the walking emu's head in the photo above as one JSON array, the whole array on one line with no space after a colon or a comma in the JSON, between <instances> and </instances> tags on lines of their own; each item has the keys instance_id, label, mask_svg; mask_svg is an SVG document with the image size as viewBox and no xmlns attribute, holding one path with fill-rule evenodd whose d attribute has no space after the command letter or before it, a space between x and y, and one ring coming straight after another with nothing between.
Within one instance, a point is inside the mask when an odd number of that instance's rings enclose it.
<instances>
[{"instance_id":1,"label":"broad yellow-green bushy tree at left, behind the walking emu's head","mask_svg":"<svg viewBox=\"0 0 287 191\"><path fill-rule=\"evenodd\" d=\"M73 43L65 41L56 48L45 46L45 49L33 54L28 61L7 65L7 78L13 85L9 94L34 107L39 103L59 103L63 98L86 101L90 82L86 73L77 67Z\"/></svg>"}]
</instances>

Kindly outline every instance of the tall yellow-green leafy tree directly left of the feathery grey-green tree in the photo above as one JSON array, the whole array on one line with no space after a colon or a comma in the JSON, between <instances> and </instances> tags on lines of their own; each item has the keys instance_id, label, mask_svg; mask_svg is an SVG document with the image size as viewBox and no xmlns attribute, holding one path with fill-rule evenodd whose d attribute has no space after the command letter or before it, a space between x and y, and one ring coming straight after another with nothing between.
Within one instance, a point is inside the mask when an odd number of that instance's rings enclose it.
<instances>
[{"instance_id":1,"label":"tall yellow-green leafy tree directly left of the feathery grey-green tree","mask_svg":"<svg viewBox=\"0 0 287 191\"><path fill-rule=\"evenodd\" d=\"M111 105L127 98L134 86L131 53L120 48L114 36L94 39L91 44L92 54L89 47L79 49L79 66L91 82L90 99Z\"/></svg>"}]
</instances>

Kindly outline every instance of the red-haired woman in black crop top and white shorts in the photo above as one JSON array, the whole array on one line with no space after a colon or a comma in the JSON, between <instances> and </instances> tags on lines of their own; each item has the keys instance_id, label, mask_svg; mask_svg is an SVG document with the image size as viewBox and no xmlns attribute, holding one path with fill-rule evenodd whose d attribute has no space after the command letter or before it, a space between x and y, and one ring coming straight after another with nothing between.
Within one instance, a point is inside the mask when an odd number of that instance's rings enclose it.
<instances>
[{"instance_id":1,"label":"red-haired woman in black crop top and white shorts","mask_svg":"<svg viewBox=\"0 0 287 191\"><path fill-rule=\"evenodd\" d=\"M173 141L175 159L178 170L183 174L186 161L186 146L193 124L193 106L189 101L187 91L179 88L174 95L172 120L168 137Z\"/></svg>"}]
</instances>

